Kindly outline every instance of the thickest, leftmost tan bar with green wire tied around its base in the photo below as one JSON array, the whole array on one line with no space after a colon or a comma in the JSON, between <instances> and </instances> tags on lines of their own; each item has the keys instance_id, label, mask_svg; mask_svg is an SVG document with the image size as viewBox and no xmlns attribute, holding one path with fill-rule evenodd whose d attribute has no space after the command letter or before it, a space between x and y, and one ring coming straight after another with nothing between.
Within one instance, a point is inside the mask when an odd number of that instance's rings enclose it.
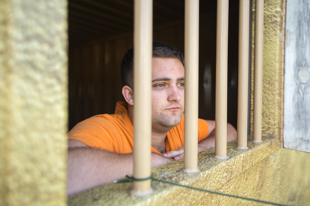
<instances>
[{"instance_id":1,"label":"thickest, leftmost tan bar with green wire tied around its base","mask_svg":"<svg viewBox=\"0 0 310 206\"><path fill-rule=\"evenodd\" d=\"M135 0L133 176L137 179L151 176L152 7L152 0ZM151 179L133 182L132 195L152 193Z\"/></svg>"}]
</instances>

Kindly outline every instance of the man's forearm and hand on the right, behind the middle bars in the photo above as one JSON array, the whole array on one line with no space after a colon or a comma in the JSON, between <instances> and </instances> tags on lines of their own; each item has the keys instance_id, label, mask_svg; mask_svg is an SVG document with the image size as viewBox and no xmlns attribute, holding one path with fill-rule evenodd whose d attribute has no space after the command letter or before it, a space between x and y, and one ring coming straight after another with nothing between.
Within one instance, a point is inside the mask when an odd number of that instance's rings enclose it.
<instances>
[{"instance_id":1,"label":"man's forearm and hand on the right, behind the middle bars","mask_svg":"<svg viewBox=\"0 0 310 206\"><path fill-rule=\"evenodd\" d=\"M202 140L198 143L198 152L205 151L215 147L215 121L206 120L209 126L209 136L208 138ZM227 123L227 142L237 139L236 129L229 123ZM179 160L184 157L184 147L181 147L177 150L173 150L163 154L164 157L174 158L174 160Z\"/></svg>"}]
</instances>

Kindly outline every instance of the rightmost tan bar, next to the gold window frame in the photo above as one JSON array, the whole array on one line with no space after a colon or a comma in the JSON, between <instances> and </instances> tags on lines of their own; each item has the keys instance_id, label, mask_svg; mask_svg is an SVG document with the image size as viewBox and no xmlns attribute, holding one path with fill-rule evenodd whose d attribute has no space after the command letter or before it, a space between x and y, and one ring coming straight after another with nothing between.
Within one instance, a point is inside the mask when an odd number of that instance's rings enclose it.
<instances>
[{"instance_id":1,"label":"rightmost tan bar, next to the gold window frame","mask_svg":"<svg viewBox=\"0 0 310 206\"><path fill-rule=\"evenodd\" d=\"M262 142L264 0L255 2L253 142Z\"/></svg>"}]
</instances>

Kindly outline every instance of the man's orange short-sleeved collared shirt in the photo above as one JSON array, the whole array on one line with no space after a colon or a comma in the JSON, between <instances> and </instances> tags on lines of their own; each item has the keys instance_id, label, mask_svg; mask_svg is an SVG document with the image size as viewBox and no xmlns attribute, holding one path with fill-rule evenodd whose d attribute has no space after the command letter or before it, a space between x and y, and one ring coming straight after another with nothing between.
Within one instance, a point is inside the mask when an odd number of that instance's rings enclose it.
<instances>
[{"instance_id":1,"label":"man's orange short-sleeved collared shirt","mask_svg":"<svg viewBox=\"0 0 310 206\"><path fill-rule=\"evenodd\" d=\"M205 120L198 119L198 142L209 134ZM128 116L126 102L117 102L114 114L100 114L88 118L68 132L68 139L83 142L92 148L99 148L121 154L133 152L133 124ZM179 125L167 132L166 151L184 146L184 115ZM158 152L151 147L152 152Z\"/></svg>"}]
</instances>

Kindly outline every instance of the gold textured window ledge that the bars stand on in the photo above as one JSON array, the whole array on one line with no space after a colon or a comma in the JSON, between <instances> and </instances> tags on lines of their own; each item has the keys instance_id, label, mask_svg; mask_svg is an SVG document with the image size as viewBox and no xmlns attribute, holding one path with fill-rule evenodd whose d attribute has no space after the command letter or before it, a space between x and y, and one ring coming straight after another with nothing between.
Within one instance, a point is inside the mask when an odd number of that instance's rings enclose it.
<instances>
[{"instance_id":1,"label":"gold textured window ledge that the bars stand on","mask_svg":"<svg viewBox=\"0 0 310 206\"><path fill-rule=\"evenodd\" d=\"M197 174L185 174L183 159L181 159L154 168L152 175L154 178L215 191L277 151L279 140L263 138L261 144L249 142L249 150L238 150L235 148L236 145L236 141L228 143L227 155L230 157L228 160L214 158L214 148L199 153L198 169L200 172ZM202 191L157 181L152 181L152 187L154 188L153 195L140 198L128 194L132 188L131 182L110 183L70 196L69 205L192 205L204 195L208 195Z\"/></svg>"}]
</instances>

